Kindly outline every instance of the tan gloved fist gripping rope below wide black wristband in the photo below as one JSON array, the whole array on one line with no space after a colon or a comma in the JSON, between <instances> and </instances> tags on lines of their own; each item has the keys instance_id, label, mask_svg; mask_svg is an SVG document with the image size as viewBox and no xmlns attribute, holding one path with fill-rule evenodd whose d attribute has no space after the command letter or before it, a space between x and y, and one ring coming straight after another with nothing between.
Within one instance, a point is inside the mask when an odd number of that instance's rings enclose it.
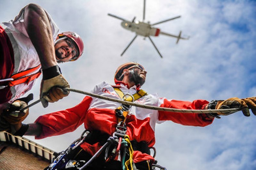
<instances>
[{"instance_id":1,"label":"tan gloved fist gripping rope below wide black wristband","mask_svg":"<svg viewBox=\"0 0 256 170\"><path fill-rule=\"evenodd\" d=\"M48 102L56 102L63 97L68 96L69 91L62 88L69 88L69 84L66 79L59 74L51 79L42 80L40 88L40 98L44 107L48 106Z\"/></svg>"}]
</instances>

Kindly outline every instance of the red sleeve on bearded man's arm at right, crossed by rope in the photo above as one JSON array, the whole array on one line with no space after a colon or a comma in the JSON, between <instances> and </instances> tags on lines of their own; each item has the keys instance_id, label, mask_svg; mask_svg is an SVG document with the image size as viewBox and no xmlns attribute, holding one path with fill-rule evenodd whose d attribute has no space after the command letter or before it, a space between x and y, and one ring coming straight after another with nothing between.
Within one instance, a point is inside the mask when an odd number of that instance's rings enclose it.
<instances>
[{"instance_id":1,"label":"red sleeve on bearded man's arm at right, crossed by rope","mask_svg":"<svg viewBox=\"0 0 256 170\"><path fill-rule=\"evenodd\" d=\"M168 107L175 109L204 109L209 102L206 100L194 100L193 102L164 99L164 103L160 107ZM158 111L158 120L172 120L175 123L188 126L207 126L212 123L213 119L207 117L204 113L178 113Z\"/></svg>"}]
</instances>

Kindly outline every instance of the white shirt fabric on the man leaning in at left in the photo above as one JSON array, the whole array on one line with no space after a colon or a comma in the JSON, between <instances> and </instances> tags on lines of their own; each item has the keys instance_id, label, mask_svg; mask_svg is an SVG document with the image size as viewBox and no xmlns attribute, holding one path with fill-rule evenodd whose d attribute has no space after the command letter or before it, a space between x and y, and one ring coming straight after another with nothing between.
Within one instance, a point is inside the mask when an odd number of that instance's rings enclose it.
<instances>
[{"instance_id":1,"label":"white shirt fabric on the man leaning in at left","mask_svg":"<svg viewBox=\"0 0 256 170\"><path fill-rule=\"evenodd\" d=\"M5 33L8 35L10 42L12 44L13 54L14 54L14 70L12 75L16 73L20 73L22 71L34 68L40 65L40 60L34 45L32 44L28 33L24 24L24 10L21 9L18 16L15 17L14 20L10 20L9 22L0 23L0 26L4 29ZM50 20L50 24L52 27L52 37L53 40L56 40L57 35L59 33L59 27L52 20L51 16L45 12ZM42 36L42 35L38 35ZM10 47L9 47L10 48ZM41 67L39 67L34 72L29 73L34 74L37 73ZM1 74L1 73L0 73ZM10 78L10 77L6 77ZM35 80L29 81L28 83L22 83L11 87L12 97L9 103L12 103L14 100L23 96L28 90L32 88L35 84ZM3 107L4 104L0 104L0 108Z\"/></svg>"}]
</instances>

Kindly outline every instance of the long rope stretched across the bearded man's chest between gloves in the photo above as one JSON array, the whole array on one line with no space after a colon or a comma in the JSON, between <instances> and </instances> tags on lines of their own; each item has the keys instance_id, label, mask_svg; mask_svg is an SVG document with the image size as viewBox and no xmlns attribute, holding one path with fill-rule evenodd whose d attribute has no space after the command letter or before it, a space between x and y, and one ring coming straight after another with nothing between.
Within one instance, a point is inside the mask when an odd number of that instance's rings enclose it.
<instances>
[{"instance_id":1,"label":"long rope stretched across the bearded man's chest between gloves","mask_svg":"<svg viewBox=\"0 0 256 170\"><path fill-rule=\"evenodd\" d=\"M173 109L173 108L167 108L167 107L157 107L157 106L149 106L149 105L143 105L143 104L127 102L127 101L124 101L124 100L119 100L119 99L114 99L114 98L110 98L110 97L100 96L100 95L89 93L89 92L85 92L85 91L82 91L82 90L76 90L76 89L70 89L70 88L66 88L66 89L68 91L73 91L73 92L76 92L76 93L88 95L88 96L91 96L91 97L100 98L100 99L103 99L103 100L117 102L117 103L121 103L121 104L125 104L125 105L141 107L141 108L145 108L145 109L158 110L158 111L166 111L166 112L179 112L179 113L229 113L229 112L233 112L234 113L234 112L238 112L238 111L241 110L240 108L233 108L233 109L211 109L211 110Z\"/></svg>"}]
</instances>

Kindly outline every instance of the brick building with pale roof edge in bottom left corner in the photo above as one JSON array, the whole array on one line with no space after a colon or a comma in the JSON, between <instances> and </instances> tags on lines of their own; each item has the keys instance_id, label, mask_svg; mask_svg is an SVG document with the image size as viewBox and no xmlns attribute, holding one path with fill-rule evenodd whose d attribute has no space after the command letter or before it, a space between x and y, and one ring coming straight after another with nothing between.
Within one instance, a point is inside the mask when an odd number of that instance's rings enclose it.
<instances>
[{"instance_id":1,"label":"brick building with pale roof edge in bottom left corner","mask_svg":"<svg viewBox=\"0 0 256 170\"><path fill-rule=\"evenodd\" d=\"M0 132L0 170L37 170L47 167L52 150L24 137Z\"/></svg>"}]
</instances>

